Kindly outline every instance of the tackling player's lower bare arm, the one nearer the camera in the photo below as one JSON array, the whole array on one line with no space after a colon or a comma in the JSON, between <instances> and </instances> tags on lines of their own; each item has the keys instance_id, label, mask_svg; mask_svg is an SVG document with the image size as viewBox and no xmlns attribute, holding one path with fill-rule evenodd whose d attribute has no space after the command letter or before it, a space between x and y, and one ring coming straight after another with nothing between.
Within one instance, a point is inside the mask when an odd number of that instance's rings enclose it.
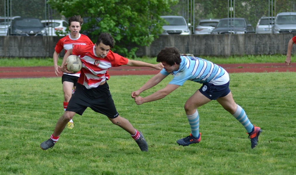
<instances>
[{"instance_id":1,"label":"tackling player's lower bare arm, the one nearer the camera","mask_svg":"<svg viewBox=\"0 0 296 175\"><path fill-rule=\"evenodd\" d=\"M168 94L170 94L171 92L173 92L174 90L176 90L178 87L180 87L179 85L171 85L168 84L165 86L165 88L156 91L155 93L147 96L147 97L141 97L141 96L137 96L135 98L135 102L137 105L141 105L143 103L147 103L150 101L156 101L162 98L165 98L165 96L167 96Z\"/></svg>"}]
</instances>

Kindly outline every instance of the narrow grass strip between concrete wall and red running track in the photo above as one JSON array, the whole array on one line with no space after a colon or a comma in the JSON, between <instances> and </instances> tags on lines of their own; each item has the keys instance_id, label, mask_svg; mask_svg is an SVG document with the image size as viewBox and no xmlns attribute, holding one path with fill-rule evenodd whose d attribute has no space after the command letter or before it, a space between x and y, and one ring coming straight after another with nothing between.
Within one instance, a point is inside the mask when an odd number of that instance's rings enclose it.
<instances>
[{"instance_id":1,"label":"narrow grass strip between concrete wall and red running track","mask_svg":"<svg viewBox=\"0 0 296 175\"><path fill-rule=\"evenodd\" d=\"M200 56L203 59L212 61L215 64L234 64L234 63L284 63L284 55L248 55L248 56L230 56L230 57L213 57ZM136 60L145 61L155 64L156 58L136 58ZM58 64L62 64L62 58L59 58ZM1 58L0 67L28 67L28 66L53 66L52 58Z\"/></svg>"}]
</instances>

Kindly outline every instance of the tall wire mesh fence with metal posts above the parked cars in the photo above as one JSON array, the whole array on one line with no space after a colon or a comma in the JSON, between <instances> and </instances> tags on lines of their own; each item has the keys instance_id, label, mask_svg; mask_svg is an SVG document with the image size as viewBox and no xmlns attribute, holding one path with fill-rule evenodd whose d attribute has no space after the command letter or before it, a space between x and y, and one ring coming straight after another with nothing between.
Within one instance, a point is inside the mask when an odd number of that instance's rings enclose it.
<instances>
[{"instance_id":1,"label":"tall wire mesh fence with metal posts above the parked cars","mask_svg":"<svg viewBox=\"0 0 296 175\"><path fill-rule=\"evenodd\" d=\"M199 20L239 17L247 19L255 28L262 16L276 16L280 12L296 12L295 0L179 0L171 12L161 15L183 16L191 23L192 31ZM40 20L66 20L51 9L46 0L0 0L0 22L9 17L35 17Z\"/></svg>"}]
</instances>

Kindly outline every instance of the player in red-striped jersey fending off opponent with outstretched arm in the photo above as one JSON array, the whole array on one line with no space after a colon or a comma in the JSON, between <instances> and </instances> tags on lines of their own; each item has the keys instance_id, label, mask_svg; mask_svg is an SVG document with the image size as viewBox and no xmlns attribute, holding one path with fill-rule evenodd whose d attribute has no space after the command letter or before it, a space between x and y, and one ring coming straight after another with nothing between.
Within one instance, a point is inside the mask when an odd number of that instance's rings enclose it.
<instances>
[{"instance_id":1,"label":"player in red-striped jersey fending off opponent with outstretched arm","mask_svg":"<svg viewBox=\"0 0 296 175\"><path fill-rule=\"evenodd\" d=\"M93 45L75 45L69 49L64 56L61 70L71 73L66 69L66 58L73 55L80 55L83 67L75 93L69 101L65 113L59 118L54 128L54 132L48 140L40 144L41 149L52 148L58 141L60 134L67 125L67 122L77 113L82 115L87 107L97 113L107 116L115 125L126 130L139 145L141 151L148 151L148 145L143 134L136 130L132 124L121 117L114 105L114 101L109 91L110 75L108 69L121 65L136 67L152 67L162 70L163 65L149 64L142 61L130 60L123 56L113 53L110 49L114 46L114 39L108 33L101 33L96 43ZM99 126L99 125L98 125Z\"/></svg>"}]
</instances>

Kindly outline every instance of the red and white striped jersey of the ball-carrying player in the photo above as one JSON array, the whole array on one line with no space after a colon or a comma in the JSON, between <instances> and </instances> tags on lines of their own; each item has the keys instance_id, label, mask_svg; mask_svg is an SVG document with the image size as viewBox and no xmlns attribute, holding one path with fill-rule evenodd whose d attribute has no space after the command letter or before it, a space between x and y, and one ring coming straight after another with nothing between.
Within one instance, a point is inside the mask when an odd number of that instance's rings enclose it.
<instances>
[{"instance_id":1,"label":"red and white striped jersey of the ball-carrying player","mask_svg":"<svg viewBox=\"0 0 296 175\"><path fill-rule=\"evenodd\" d=\"M72 54L80 55L82 61L81 75L78 83L87 89L98 87L101 82L109 80L110 75L107 70L110 67L126 65L128 59L113 53L111 50L107 56L100 58L95 53L95 45L75 45Z\"/></svg>"}]
</instances>

